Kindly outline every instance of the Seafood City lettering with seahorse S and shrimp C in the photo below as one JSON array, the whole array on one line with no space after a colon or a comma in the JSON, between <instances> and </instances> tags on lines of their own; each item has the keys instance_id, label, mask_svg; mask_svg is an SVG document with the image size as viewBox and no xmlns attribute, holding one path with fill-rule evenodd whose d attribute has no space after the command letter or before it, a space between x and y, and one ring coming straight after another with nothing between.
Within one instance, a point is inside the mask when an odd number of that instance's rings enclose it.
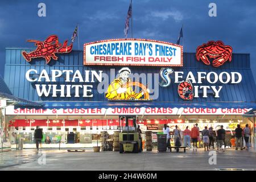
<instances>
[{"instance_id":1,"label":"Seafood City lettering with seahorse S and shrimp C","mask_svg":"<svg viewBox=\"0 0 256 182\"><path fill-rule=\"evenodd\" d=\"M184 75L184 72L177 71L172 71L171 73L166 74L165 79L168 80L168 85L170 85L171 76L174 75L174 83L179 84L177 92L183 100L199 98L199 93L203 93L205 98L208 97L209 93L213 93L215 98L219 98L223 85L239 84L242 81L242 75L238 72L197 72L196 75L193 72L188 72L187 75ZM205 83L208 83L208 85L204 85ZM159 83L159 85L161 84Z\"/></svg>"}]
</instances>

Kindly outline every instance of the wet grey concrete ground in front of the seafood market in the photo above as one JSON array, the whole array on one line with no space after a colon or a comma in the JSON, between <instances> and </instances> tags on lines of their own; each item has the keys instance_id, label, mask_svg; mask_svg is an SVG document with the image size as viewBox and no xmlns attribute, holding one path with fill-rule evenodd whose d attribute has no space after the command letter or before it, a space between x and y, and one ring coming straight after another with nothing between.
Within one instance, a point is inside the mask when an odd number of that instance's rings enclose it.
<instances>
[{"instance_id":1,"label":"wet grey concrete ground in front of the seafood market","mask_svg":"<svg viewBox=\"0 0 256 182\"><path fill-rule=\"evenodd\" d=\"M217 164L209 164L209 152L144 151L119 154L105 151L68 152L67 150L23 150L0 154L0 170L217 170L239 168L256 170L256 152L227 149L216 155ZM211 160L213 161L213 160Z\"/></svg>"}]
</instances>

